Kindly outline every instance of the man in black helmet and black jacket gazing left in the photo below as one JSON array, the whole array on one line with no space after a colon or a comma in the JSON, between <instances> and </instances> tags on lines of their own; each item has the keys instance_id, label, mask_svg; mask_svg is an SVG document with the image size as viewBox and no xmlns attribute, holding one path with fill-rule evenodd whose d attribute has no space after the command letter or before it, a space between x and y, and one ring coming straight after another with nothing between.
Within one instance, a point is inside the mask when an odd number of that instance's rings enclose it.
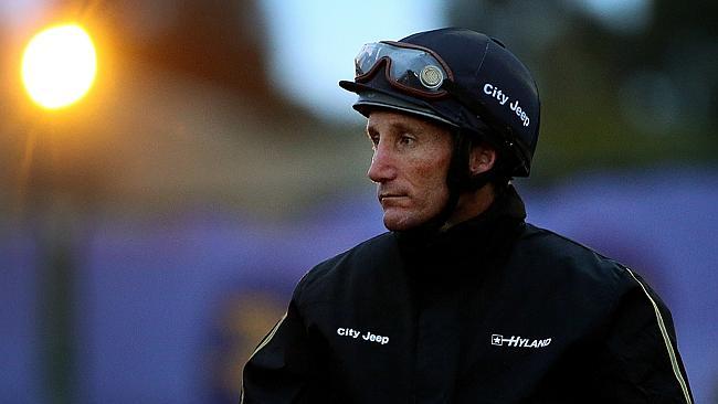
<instances>
[{"instance_id":1,"label":"man in black helmet and black jacket gazing left","mask_svg":"<svg viewBox=\"0 0 718 404\"><path fill-rule=\"evenodd\" d=\"M691 403L655 293L524 221L539 98L503 44L422 32L356 70L389 232L299 281L244 403Z\"/></svg>"}]
</instances>

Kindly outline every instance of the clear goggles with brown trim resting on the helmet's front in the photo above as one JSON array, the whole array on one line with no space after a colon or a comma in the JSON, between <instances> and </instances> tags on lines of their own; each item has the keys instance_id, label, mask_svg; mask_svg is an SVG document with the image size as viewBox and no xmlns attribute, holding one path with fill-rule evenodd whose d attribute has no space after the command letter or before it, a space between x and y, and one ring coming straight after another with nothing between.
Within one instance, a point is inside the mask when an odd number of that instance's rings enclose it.
<instances>
[{"instance_id":1,"label":"clear goggles with brown trim resting on the helmet's front","mask_svg":"<svg viewBox=\"0 0 718 404\"><path fill-rule=\"evenodd\" d=\"M442 97L447 94L442 85L454 78L446 63L432 50L403 42L382 41L361 47L355 57L355 81L368 82L382 64L389 84L416 96Z\"/></svg>"}]
</instances>

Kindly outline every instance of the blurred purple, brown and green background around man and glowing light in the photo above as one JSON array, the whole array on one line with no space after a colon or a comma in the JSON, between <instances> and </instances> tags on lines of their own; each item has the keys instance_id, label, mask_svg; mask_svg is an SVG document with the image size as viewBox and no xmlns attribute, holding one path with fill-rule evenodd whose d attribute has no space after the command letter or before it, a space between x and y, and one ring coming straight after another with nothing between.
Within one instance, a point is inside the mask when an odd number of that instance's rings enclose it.
<instances>
[{"instance_id":1,"label":"blurred purple, brown and green background around man and glowing light","mask_svg":"<svg viewBox=\"0 0 718 404\"><path fill-rule=\"evenodd\" d=\"M632 266L718 403L718 3L0 0L0 402L234 403L319 261L383 231L353 97L366 42L463 25L541 89L528 219ZM87 95L38 107L42 29Z\"/></svg>"}]
</instances>

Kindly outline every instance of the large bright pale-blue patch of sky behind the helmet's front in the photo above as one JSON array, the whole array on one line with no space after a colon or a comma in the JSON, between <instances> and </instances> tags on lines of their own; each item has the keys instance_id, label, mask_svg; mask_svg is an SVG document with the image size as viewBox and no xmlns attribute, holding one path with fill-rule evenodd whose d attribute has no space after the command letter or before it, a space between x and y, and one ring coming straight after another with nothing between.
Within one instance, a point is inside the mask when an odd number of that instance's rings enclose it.
<instances>
[{"instance_id":1,"label":"large bright pale-blue patch of sky behind the helmet's front","mask_svg":"<svg viewBox=\"0 0 718 404\"><path fill-rule=\"evenodd\" d=\"M353 78L353 56L367 42L399 40L445 25L443 3L432 0L262 0L271 35L277 89L320 117L357 120L356 96L339 88Z\"/></svg>"}]
</instances>

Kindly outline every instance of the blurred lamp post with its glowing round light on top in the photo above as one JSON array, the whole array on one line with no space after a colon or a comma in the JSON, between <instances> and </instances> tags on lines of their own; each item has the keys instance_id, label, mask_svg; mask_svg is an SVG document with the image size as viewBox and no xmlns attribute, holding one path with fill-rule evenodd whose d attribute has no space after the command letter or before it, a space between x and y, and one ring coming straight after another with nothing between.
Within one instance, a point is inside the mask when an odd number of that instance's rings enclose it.
<instances>
[{"instance_id":1,"label":"blurred lamp post with its glowing round light on top","mask_svg":"<svg viewBox=\"0 0 718 404\"><path fill-rule=\"evenodd\" d=\"M42 114L61 114L85 96L97 72L94 43L81 25L50 26L35 34L23 52L22 83ZM50 117L52 120L52 116ZM43 141L45 140L45 141ZM72 224L67 212L54 201L56 168L52 143L38 139L34 172L40 179L30 196L38 222L39 309L41 361L45 394L53 403L71 403L74 395L75 339L73 304L75 265Z\"/></svg>"}]
</instances>

